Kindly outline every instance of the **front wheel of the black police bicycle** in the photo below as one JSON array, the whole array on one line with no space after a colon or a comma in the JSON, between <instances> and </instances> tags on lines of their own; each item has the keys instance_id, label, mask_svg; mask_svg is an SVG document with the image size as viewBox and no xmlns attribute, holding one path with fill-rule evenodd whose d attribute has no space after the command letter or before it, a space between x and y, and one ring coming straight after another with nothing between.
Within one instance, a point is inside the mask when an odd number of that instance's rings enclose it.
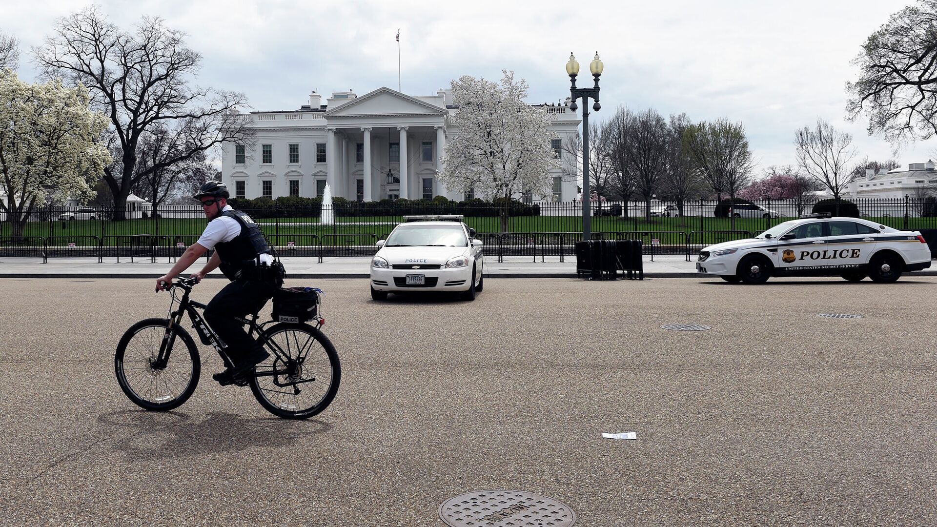
<instances>
[{"instance_id":1,"label":"front wheel of the black police bicycle","mask_svg":"<svg viewBox=\"0 0 937 527\"><path fill-rule=\"evenodd\" d=\"M146 319L131 325L114 354L117 383L128 399L146 410L172 410L186 402L199 384L199 351L178 324L170 330L169 360L166 364L157 360L169 323L167 319ZM177 345L180 339L185 346Z\"/></svg>"}]
</instances>

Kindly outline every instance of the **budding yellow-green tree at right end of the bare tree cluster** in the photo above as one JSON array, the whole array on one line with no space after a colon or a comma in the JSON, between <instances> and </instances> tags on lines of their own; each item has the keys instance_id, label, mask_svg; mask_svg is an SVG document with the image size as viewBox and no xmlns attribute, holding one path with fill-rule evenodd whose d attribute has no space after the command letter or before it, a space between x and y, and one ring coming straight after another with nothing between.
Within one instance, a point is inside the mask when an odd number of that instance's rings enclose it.
<instances>
[{"instance_id":1,"label":"budding yellow-green tree at right end of the bare tree cluster","mask_svg":"<svg viewBox=\"0 0 937 527\"><path fill-rule=\"evenodd\" d=\"M745 127L725 118L690 125L683 133L683 144L717 199L721 201L727 192L735 203L738 191L751 181L753 166ZM735 217L731 221L735 230Z\"/></svg>"}]
</instances>

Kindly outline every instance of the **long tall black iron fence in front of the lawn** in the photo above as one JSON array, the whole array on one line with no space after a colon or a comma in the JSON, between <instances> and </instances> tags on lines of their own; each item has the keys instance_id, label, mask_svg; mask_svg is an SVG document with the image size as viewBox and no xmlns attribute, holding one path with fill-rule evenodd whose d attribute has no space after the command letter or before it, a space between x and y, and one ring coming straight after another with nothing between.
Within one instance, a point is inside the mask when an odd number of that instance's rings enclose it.
<instances>
[{"instance_id":1,"label":"long tall black iron fence in front of the lawn","mask_svg":"<svg viewBox=\"0 0 937 527\"><path fill-rule=\"evenodd\" d=\"M855 200L844 210L860 218L906 230L937 229L937 200L905 196ZM308 207L266 206L245 212L254 218L281 255L368 256L407 215L463 213L484 242L485 252L542 260L575 254L582 241L582 203L533 203L501 209L498 204L336 203ZM462 208L459 208L459 207ZM814 203L756 200L753 203L592 203L592 239L641 240L646 254L690 255L721 241L751 237L782 221L810 214ZM505 213L505 214L502 214ZM122 220L112 218L123 217ZM0 256L97 256L177 258L194 243L206 220L198 205L156 210L44 207L29 218L0 214Z\"/></svg>"}]
</instances>

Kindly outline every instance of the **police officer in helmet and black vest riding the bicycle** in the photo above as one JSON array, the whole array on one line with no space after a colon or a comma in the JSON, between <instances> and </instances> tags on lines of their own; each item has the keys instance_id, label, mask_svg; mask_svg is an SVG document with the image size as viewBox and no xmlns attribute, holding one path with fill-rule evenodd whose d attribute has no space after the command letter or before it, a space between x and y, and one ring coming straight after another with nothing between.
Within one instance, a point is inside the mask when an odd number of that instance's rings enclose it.
<instances>
[{"instance_id":1,"label":"police officer in helmet and black vest riding the bicycle","mask_svg":"<svg viewBox=\"0 0 937 527\"><path fill-rule=\"evenodd\" d=\"M232 384L270 356L234 317L244 317L263 308L276 288L283 285L284 277L283 267L275 261L260 227L228 204L230 195L228 187L217 181L209 181L199 188L193 197L201 202L201 209L209 220L208 227L197 242L186 248L170 272L156 279L157 292L168 288L171 280L194 264L206 250L215 249L208 263L192 277L201 280L220 267L231 280L205 308L205 320L225 342L226 352L234 363L233 368L212 376L222 385Z\"/></svg>"}]
</instances>

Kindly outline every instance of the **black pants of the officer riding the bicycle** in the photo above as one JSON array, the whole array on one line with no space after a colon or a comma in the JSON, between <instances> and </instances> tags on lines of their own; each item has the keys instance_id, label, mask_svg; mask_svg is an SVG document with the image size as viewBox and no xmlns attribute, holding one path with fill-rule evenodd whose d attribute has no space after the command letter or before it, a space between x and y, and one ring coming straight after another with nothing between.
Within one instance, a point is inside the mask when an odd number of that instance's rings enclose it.
<instances>
[{"instance_id":1,"label":"black pants of the officer riding the bicycle","mask_svg":"<svg viewBox=\"0 0 937 527\"><path fill-rule=\"evenodd\" d=\"M274 295L274 288L260 281L233 281L212 298L205 308L205 320L212 326L225 344L234 366L238 366L245 355L260 349L257 340L251 339L244 324L234 317L245 317L260 311Z\"/></svg>"}]
</instances>

